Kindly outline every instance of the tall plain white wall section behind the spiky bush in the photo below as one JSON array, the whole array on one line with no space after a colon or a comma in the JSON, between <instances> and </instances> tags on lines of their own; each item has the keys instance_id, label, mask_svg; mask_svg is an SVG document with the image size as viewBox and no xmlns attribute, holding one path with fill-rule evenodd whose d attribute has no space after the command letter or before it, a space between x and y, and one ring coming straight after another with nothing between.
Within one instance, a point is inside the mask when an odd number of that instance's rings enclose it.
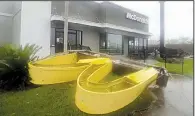
<instances>
[{"instance_id":1,"label":"tall plain white wall section behind the spiky bush","mask_svg":"<svg viewBox=\"0 0 195 116\"><path fill-rule=\"evenodd\" d=\"M51 2L23 1L21 9L21 45L27 43L42 47L37 55L50 54Z\"/></svg>"}]
</instances>

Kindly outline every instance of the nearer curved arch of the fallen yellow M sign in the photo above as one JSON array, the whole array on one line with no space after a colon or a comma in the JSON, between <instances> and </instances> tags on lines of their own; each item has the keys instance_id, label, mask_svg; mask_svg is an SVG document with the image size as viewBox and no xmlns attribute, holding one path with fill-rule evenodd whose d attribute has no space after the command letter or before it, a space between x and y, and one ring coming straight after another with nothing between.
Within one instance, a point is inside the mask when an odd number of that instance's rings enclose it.
<instances>
[{"instance_id":1,"label":"nearer curved arch of the fallen yellow M sign","mask_svg":"<svg viewBox=\"0 0 195 116\"><path fill-rule=\"evenodd\" d=\"M108 64L111 65L111 61L105 63L105 65ZM123 108L134 101L157 78L158 74L154 68L147 68L129 74L118 81L98 83L111 71L111 68L105 67L105 65L95 71L90 71L91 68L87 68L77 80L75 103L83 112L105 114ZM92 64L90 67L94 66ZM88 72L93 73L88 74Z\"/></svg>"}]
</instances>

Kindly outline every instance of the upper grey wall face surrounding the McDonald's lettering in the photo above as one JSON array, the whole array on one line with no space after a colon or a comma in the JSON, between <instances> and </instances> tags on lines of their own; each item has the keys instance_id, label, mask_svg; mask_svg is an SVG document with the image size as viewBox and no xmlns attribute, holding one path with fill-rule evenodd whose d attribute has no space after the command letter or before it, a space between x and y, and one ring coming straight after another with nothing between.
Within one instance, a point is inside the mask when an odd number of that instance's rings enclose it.
<instances>
[{"instance_id":1,"label":"upper grey wall face surrounding the McDonald's lettering","mask_svg":"<svg viewBox=\"0 0 195 116\"><path fill-rule=\"evenodd\" d=\"M139 17L148 18L145 15L142 15L142 14L137 13L135 11L123 8L121 6L118 6L118 5L116 5L114 3L110 3L110 2L101 3L101 9L106 10L106 12L103 12L106 14L106 19L105 19L106 23L115 24L118 26L124 26L124 27L129 27L132 29L137 29L137 30L148 32L148 25L147 24L143 24L143 23L126 18L127 12L136 14L136 16L139 16Z\"/></svg>"}]
</instances>

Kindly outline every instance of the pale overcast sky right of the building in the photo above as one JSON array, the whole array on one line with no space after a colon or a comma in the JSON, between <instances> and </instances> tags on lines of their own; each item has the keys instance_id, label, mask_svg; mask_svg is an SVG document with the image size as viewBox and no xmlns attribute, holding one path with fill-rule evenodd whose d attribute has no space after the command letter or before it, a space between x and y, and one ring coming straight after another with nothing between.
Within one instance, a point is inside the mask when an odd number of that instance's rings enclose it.
<instances>
[{"instance_id":1,"label":"pale overcast sky right of the building","mask_svg":"<svg viewBox=\"0 0 195 116\"><path fill-rule=\"evenodd\" d=\"M112 1L149 17L152 39L160 35L160 4L157 1ZM193 37L193 1L165 2L165 38Z\"/></svg>"}]
</instances>

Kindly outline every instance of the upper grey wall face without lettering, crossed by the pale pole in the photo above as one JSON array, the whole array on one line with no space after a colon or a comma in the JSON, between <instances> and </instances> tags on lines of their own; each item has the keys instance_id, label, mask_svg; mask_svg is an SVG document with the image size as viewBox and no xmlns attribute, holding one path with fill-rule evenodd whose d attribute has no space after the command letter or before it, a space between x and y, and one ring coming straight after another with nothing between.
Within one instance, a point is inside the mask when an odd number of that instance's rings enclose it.
<instances>
[{"instance_id":1,"label":"upper grey wall face without lettering, crossed by the pale pole","mask_svg":"<svg viewBox=\"0 0 195 116\"><path fill-rule=\"evenodd\" d=\"M52 15L64 16L64 1L52 1ZM68 15L77 18L99 23L100 6L92 1L71 1L69 2Z\"/></svg>"}]
</instances>

